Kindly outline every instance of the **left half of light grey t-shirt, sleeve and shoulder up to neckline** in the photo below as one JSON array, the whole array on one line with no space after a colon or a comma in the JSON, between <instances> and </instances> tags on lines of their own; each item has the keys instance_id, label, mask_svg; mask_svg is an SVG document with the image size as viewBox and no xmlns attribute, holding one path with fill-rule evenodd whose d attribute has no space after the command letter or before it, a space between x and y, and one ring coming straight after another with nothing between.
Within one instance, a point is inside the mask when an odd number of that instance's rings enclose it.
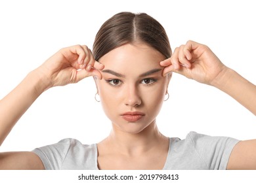
<instances>
[{"instance_id":1,"label":"left half of light grey t-shirt, sleeve and shoulder up to neckline","mask_svg":"<svg viewBox=\"0 0 256 183\"><path fill-rule=\"evenodd\" d=\"M82 144L68 138L36 148L33 152L41 158L46 169L89 169L85 166L94 165L96 144Z\"/></svg>"}]
</instances>

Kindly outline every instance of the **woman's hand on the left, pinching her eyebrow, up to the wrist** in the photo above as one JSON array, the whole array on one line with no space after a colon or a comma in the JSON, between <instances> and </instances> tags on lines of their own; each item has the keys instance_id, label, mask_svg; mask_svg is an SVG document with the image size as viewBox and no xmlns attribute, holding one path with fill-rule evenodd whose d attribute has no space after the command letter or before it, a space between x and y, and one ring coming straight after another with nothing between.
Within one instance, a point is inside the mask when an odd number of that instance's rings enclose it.
<instances>
[{"instance_id":1,"label":"woman's hand on the left, pinching her eyebrow, up to the wrist","mask_svg":"<svg viewBox=\"0 0 256 183\"><path fill-rule=\"evenodd\" d=\"M102 78L104 65L95 61L87 46L75 45L62 48L47 59L37 71L45 78L45 90L53 86L76 83L88 76Z\"/></svg>"}]
</instances>

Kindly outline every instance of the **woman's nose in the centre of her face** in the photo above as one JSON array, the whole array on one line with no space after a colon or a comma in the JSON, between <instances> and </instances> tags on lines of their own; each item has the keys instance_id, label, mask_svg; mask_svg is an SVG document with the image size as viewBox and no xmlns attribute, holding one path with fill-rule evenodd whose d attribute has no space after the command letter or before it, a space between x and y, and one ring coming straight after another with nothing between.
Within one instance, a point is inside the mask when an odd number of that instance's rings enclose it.
<instances>
[{"instance_id":1,"label":"woman's nose in the centre of her face","mask_svg":"<svg viewBox=\"0 0 256 183\"><path fill-rule=\"evenodd\" d=\"M141 98L136 86L128 86L125 93L125 105L129 107L138 107L141 105Z\"/></svg>"}]
</instances>

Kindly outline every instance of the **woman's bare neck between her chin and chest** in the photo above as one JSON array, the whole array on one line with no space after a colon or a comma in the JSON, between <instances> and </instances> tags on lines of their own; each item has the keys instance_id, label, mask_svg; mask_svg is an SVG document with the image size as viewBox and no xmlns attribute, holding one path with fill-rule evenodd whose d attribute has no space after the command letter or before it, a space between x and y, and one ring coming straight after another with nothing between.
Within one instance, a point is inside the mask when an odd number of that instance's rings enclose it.
<instances>
[{"instance_id":1,"label":"woman's bare neck between her chin and chest","mask_svg":"<svg viewBox=\"0 0 256 183\"><path fill-rule=\"evenodd\" d=\"M121 151L122 154L132 156L133 154L143 154L152 148L156 148L163 141L169 139L163 136L156 125L152 122L148 127L139 133L127 133L113 127L109 137L106 139L113 149Z\"/></svg>"}]
</instances>

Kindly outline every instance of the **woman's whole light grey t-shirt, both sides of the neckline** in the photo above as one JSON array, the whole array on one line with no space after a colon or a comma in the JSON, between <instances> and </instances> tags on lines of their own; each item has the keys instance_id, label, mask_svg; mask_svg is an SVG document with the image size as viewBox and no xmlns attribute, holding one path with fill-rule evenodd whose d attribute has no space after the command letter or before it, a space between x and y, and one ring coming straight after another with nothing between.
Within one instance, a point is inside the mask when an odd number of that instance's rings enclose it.
<instances>
[{"instance_id":1,"label":"woman's whole light grey t-shirt, both sides of the neckline","mask_svg":"<svg viewBox=\"0 0 256 183\"><path fill-rule=\"evenodd\" d=\"M170 138L163 169L226 169L232 149L239 141L230 137L211 137L190 132L186 139ZM63 139L33 150L45 169L97 170L96 144L85 145L75 139Z\"/></svg>"}]
</instances>

